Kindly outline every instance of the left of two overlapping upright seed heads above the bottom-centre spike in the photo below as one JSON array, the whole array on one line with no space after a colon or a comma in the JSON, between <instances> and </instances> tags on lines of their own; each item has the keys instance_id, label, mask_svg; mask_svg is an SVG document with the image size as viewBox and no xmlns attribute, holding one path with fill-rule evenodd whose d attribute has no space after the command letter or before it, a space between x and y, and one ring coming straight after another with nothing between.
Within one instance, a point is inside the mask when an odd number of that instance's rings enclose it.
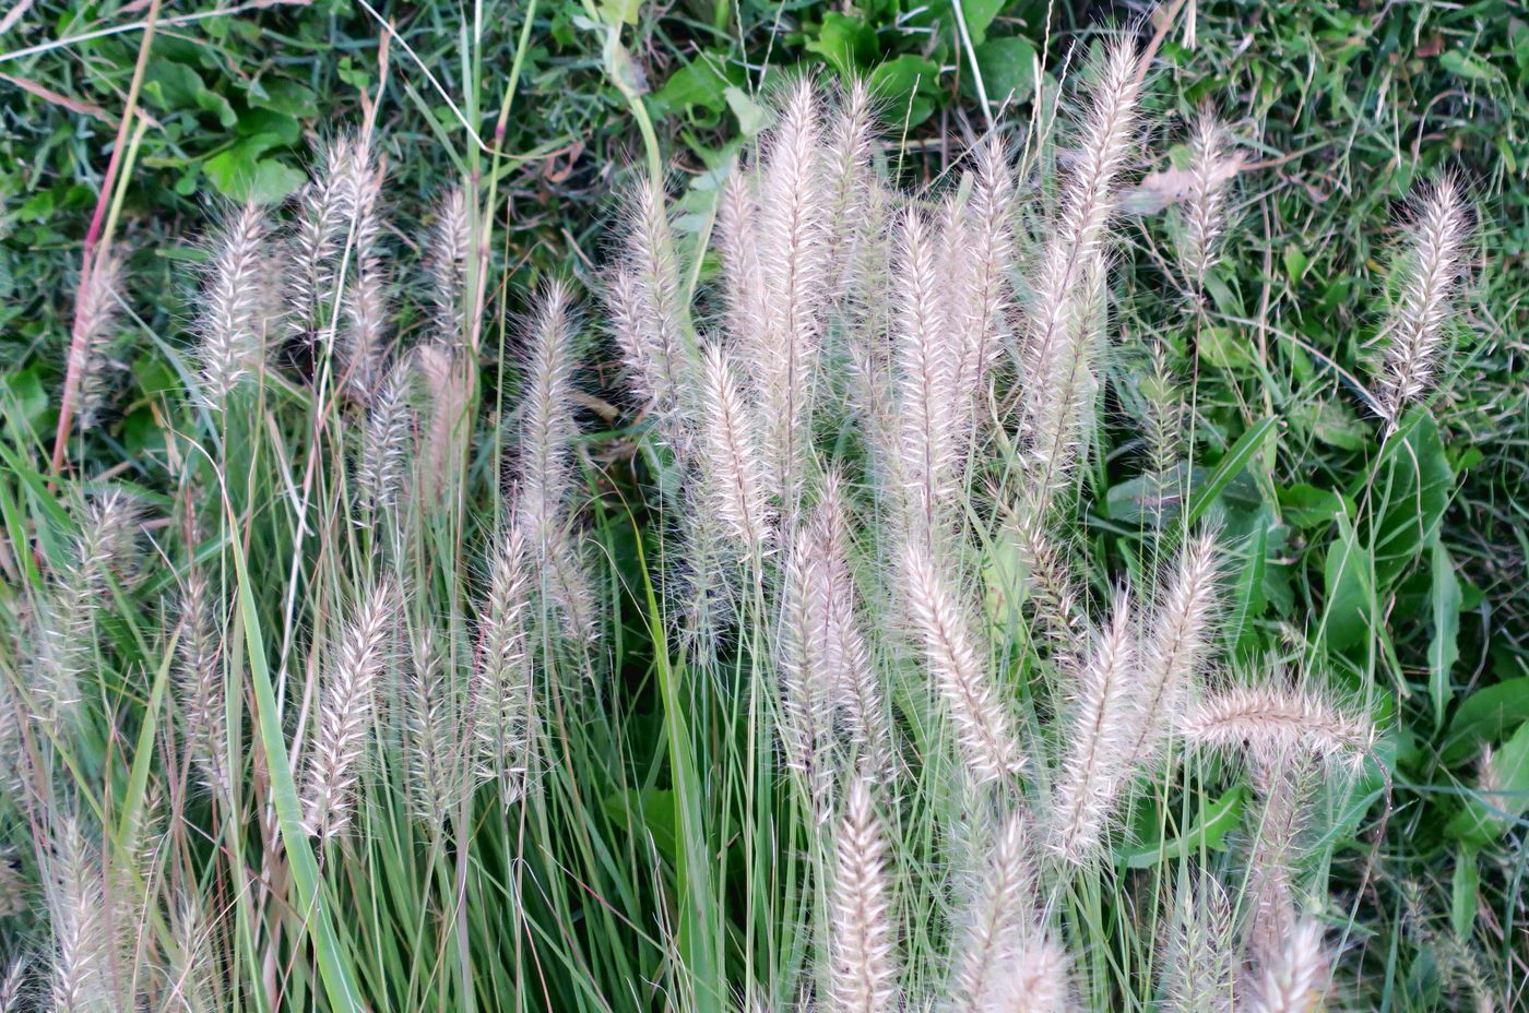
<instances>
[{"instance_id":1,"label":"left of two overlapping upright seed heads above the bottom-centre spike","mask_svg":"<svg viewBox=\"0 0 1529 1013\"><path fill-rule=\"evenodd\" d=\"M818 822L833 804L833 685L829 652L832 587L818 533L801 526L783 573L780 636L781 727L786 769L797 775Z\"/></svg>"}]
</instances>

